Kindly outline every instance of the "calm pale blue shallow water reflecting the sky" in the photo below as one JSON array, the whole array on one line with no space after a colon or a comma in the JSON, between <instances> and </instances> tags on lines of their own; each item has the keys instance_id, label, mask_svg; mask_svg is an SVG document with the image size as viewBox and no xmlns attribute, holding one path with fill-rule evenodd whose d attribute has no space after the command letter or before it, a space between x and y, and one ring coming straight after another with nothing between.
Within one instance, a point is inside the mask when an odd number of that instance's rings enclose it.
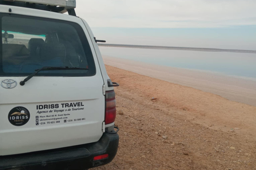
<instances>
[{"instance_id":1,"label":"calm pale blue shallow water reflecting the sky","mask_svg":"<svg viewBox=\"0 0 256 170\"><path fill-rule=\"evenodd\" d=\"M102 55L133 61L256 78L256 54L100 46Z\"/></svg>"}]
</instances>

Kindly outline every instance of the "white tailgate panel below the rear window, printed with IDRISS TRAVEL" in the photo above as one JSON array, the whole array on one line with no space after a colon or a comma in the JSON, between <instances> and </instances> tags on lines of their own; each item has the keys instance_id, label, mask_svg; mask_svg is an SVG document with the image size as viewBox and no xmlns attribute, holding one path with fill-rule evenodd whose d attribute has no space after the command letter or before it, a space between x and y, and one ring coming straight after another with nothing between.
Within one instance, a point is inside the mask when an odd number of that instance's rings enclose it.
<instances>
[{"instance_id":1,"label":"white tailgate panel below the rear window, printed with IDRISS TRAVEL","mask_svg":"<svg viewBox=\"0 0 256 170\"><path fill-rule=\"evenodd\" d=\"M102 85L100 76L34 77L24 86L2 88L1 96L7 97L0 99L1 155L98 141L105 110Z\"/></svg>"}]
</instances>

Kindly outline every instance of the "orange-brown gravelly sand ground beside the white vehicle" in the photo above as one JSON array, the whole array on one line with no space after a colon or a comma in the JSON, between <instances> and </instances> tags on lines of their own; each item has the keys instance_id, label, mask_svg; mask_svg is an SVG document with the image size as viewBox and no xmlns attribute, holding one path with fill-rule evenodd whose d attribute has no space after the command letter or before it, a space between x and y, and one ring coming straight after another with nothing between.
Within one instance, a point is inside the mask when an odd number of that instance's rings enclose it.
<instances>
[{"instance_id":1,"label":"orange-brown gravelly sand ground beside the white vehicle","mask_svg":"<svg viewBox=\"0 0 256 170\"><path fill-rule=\"evenodd\" d=\"M106 66L120 144L95 170L254 170L256 107ZM151 100L152 97L156 100Z\"/></svg>"}]
</instances>

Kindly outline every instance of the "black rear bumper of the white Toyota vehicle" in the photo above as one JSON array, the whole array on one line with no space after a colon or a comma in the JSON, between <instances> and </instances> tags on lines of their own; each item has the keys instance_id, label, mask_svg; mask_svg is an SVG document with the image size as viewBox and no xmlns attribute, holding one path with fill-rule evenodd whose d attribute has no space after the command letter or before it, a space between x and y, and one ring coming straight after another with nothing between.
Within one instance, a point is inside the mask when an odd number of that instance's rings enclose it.
<instances>
[{"instance_id":1,"label":"black rear bumper of the white Toyota vehicle","mask_svg":"<svg viewBox=\"0 0 256 170\"><path fill-rule=\"evenodd\" d=\"M111 162L117 152L118 134L104 133L98 142L32 152L0 156L0 169L21 167L25 170L78 170L101 166ZM108 158L93 161L94 156L109 154Z\"/></svg>"}]
</instances>

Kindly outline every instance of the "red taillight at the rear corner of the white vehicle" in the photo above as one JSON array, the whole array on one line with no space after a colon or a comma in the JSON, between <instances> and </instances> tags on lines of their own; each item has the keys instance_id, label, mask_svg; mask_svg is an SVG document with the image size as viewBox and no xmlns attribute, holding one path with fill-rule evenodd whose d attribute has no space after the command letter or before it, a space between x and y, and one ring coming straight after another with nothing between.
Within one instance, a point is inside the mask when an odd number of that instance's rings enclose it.
<instances>
[{"instance_id":1,"label":"red taillight at the rear corner of the white vehicle","mask_svg":"<svg viewBox=\"0 0 256 170\"><path fill-rule=\"evenodd\" d=\"M105 125L115 122L116 119L116 94L114 90L106 91Z\"/></svg>"}]
</instances>

